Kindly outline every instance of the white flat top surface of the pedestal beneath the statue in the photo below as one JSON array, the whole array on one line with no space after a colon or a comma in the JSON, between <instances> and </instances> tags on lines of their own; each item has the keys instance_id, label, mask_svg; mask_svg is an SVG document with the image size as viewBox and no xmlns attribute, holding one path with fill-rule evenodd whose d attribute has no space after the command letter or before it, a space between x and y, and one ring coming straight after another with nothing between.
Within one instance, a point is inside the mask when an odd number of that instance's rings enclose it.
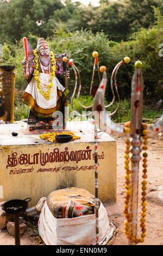
<instances>
[{"instance_id":1,"label":"white flat top surface of the pedestal beneath the statue","mask_svg":"<svg viewBox=\"0 0 163 256\"><path fill-rule=\"evenodd\" d=\"M67 122L66 130L72 131L75 135L80 136L80 140L72 141L69 143L78 143L78 142L93 142L94 130L93 125L88 121L71 121ZM17 132L17 136L12 136L12 132ZM4 124L0 125L0 145L32 145L35 143L39 144L51 144L51 142L45 142L40 139L40 134L27 134L27 123L18 121L14 124ZM45 130L47 133L48 130ZM102 136L99 138L99 142L106 141L115 141L107 133L102 133ZM56 142L57 143L57 142ZM55 143L55 144L56 144Z\"/></svg>"}]
</instances>

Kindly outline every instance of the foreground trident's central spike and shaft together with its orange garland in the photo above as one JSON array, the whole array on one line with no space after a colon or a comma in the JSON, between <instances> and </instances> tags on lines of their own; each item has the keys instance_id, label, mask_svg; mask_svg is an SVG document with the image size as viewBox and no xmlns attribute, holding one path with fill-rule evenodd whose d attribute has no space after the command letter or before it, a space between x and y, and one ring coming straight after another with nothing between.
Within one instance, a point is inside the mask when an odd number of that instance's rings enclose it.
<instances>
[{"instance_id":1,"label":"foreground trident's central spike and shaft together with its orange garland","mask_svg":"<svg viewBox=\"0 0 163 256\"><path fill-rule=\"evenodd\" d=\"M126 140L126 151L125 151L125 166L126 169L126 199L124 201L124 214L127 218L127 221L124 223L124 233L129 239L130 244L137 244L144 241L146 236L145 229L145 216L146 216L146 180L142 181L142 213L141 213L141 237L137 238L137 207L139 199L139 163L141 160L140 153L141 148L141 138L143 136L145 141L144 145L147 145L147 126L146 124L142 125L142 105L143 105L143 77L142 77L142 63L135 63L135 74L131 82L131 117L130 123L124 124L125 131L130 133L130 141ZM130 147L131 146L131 147ZM147 146L143 149L147 150ZM131 153L131 157L129 154ZM144 153L143 156L143 166L145 167L144 174L142 175L144 179L147 178L147 153ZM131 167L129 169L129 161L131 160Z\"/></svg>"}]
</instances>

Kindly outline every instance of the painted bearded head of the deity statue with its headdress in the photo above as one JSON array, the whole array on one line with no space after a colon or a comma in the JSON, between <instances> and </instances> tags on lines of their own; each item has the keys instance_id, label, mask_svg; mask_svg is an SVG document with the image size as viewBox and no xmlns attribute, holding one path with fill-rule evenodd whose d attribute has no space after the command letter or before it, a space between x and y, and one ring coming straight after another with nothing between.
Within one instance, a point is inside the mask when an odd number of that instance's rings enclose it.
<instances>
[{"instance_id":1,"label":"painted bearded head of the deity statue with its headdress","mask_svg":"<svg viewBox=\"0 0 163 256\"><path fill-rule=\"evenodd\" d=\"M51 55L47 42L39 39L37 44L37 53L43 66L48 66L51 61Z\"/></svg>"}]
</instances>

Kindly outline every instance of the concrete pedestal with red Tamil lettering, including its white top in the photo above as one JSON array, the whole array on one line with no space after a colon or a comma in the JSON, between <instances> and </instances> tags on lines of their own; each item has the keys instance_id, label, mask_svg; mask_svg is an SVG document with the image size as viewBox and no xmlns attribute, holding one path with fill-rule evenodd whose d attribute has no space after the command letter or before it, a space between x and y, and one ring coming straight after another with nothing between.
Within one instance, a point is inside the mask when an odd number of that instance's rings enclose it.
<instances>
[{"instance_id":1,"label":"concrete pedestal with red Tamil lettering, including its white top","mask_svg":"<svg viewBox=\"0 0 163 256\"><path fill-rule=\"evenodd\" d=\"M31 197L33 206L52 191L71 186L95 194L93 125L68 122L67 130L81 139L50 143L26 134L24 122L0 125L0 202ZM99 199L115 202L116 141L106 133L99 139L98 163Z\"/></svg>"}]
</instances>

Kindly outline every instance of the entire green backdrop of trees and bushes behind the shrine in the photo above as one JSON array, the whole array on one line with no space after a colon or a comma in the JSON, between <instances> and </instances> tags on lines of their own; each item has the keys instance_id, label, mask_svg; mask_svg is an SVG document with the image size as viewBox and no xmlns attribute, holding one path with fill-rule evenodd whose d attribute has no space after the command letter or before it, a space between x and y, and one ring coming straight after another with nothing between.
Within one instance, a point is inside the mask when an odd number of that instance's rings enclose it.
<instances>
[{"instance_id":1,"label":"entire green backdrop of trees and bushes behind the shrine","mask_svg":"<svg viewBox=\"0 0 163 256\"><path fill-rule=\"evenodd\" d=\"M123 64L117 75L124 109L129 109L126 100L130 101L131 78L138 59L143 63L145 103L155 107L155 102L163 99L163 57L159 57L159 45L163 43L162 0L100 2L99 7L83 7L81 3L72 3L71 0L0 0L2 64L16 66L17 117L27 113L26 107L20 111L21 95L27 86L21 65L23 36L28 38L33 48L43 36L54 53L68 53L69 59L73 59L80 71L81 95L89 94L94 62L92 52L98 51L99 65L107 67L106 102L112 100L111 72L126 56L131 62ZM97 73L93 85L98 85ZM70 67L69 100L73 88L74 73ZM91 102L92 97L86 98L86 101Z\"/></svg>"}]
</instances>

